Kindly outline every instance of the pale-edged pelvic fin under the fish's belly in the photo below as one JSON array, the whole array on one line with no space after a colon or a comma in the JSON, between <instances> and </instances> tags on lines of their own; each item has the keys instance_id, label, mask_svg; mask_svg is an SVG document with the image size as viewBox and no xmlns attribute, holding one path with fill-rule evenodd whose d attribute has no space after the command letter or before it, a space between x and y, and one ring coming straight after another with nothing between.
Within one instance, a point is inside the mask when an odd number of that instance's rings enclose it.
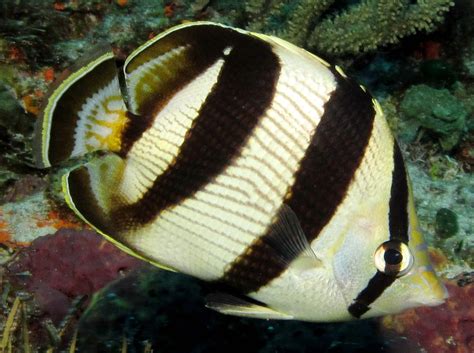
<instances>
[{"instance_id":1,"label":"pale-edged pelvic fin under the fish's belly","mask_svg":"<svg viewBox=\"0 0 474 353\"><path fill-rule=\"evenodd\" d=\"M253 319L291 320L293 316L275 311L227 293L212 293L206 296L206 308L225 315L249 317Z\"/></svg>"}]
</instances>

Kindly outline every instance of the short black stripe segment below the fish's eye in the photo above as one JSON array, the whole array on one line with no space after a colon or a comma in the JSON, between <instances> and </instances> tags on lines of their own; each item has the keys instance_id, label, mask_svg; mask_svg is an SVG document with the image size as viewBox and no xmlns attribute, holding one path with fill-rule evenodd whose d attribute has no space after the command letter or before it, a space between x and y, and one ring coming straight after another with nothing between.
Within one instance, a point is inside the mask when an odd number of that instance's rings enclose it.
<instances>
[{"instance_id":1,"label":"short black stripe segment below the fish's eye","mask_svg":"<svg viewBox=\"0 0 474 353\"><path fill-rule=\"evenodd\" d=\"M359 319L370 309L372 304L382 293L387 289L394 281L395 276L387 276L386 274L378 271L374 277L372 277L362 292L359 293L354 302L349 305L347 310L349 313Z\"/></svg>"}]
</instances>

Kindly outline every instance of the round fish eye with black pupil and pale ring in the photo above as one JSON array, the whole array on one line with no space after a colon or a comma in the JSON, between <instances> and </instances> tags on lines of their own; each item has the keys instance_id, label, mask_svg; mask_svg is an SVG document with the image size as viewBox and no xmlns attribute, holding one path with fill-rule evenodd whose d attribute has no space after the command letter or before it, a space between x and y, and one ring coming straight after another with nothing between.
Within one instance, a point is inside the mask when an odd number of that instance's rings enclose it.
<instances>
[{"instance_id":1,"label":"round fish eye with black pupil and pale ring","mask_svg":"<svg viewBox=\"0 0 474 353\"><path fill-rule=\"evenodd\" d=\"M413 255L405 243L389 240L377 248L374 261L380 272L388 276L401 277L412 268Z\"/></svg>"}]
</instances>

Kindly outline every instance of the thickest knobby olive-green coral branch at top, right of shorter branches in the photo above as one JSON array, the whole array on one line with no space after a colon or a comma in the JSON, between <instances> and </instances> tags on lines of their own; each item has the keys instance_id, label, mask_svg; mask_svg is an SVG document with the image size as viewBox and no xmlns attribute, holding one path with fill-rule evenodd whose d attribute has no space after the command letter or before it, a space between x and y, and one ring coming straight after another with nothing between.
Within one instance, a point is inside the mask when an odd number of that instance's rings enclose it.
<instances>
[{"instance_id":1,"label":"thickest knobby olive-green coral branch at top, right of shorter branches","mask_svg":"<svg viewBox=\"0 0 474 353\"><path fill-rule=\"evenodd\" d=\"M308 46L334 54L372 51L417 31L432 31L451 4L450 0L364 0L319 23Z\"/></svg>"}]
</instances>

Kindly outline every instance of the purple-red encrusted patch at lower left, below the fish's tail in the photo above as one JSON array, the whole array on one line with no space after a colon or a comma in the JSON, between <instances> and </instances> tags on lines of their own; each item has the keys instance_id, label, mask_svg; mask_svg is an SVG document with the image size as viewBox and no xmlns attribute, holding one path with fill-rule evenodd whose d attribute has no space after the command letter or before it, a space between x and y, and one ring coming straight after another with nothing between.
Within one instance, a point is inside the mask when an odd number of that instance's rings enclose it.
<instances>
[{"instance_id":1,"label":"purple-red encrusted patch at lower left, below the fish's tail","mask_svg":"<svg viewBox=\"0 0 474 353\"><path fill-rule=\"evenodd\" d=\"M34 240L8 263L7 273L34 294L42 315L59 323L74 298L92 295L139 264L95 232L62 229Z\"/></svg>"}]
</instances>

